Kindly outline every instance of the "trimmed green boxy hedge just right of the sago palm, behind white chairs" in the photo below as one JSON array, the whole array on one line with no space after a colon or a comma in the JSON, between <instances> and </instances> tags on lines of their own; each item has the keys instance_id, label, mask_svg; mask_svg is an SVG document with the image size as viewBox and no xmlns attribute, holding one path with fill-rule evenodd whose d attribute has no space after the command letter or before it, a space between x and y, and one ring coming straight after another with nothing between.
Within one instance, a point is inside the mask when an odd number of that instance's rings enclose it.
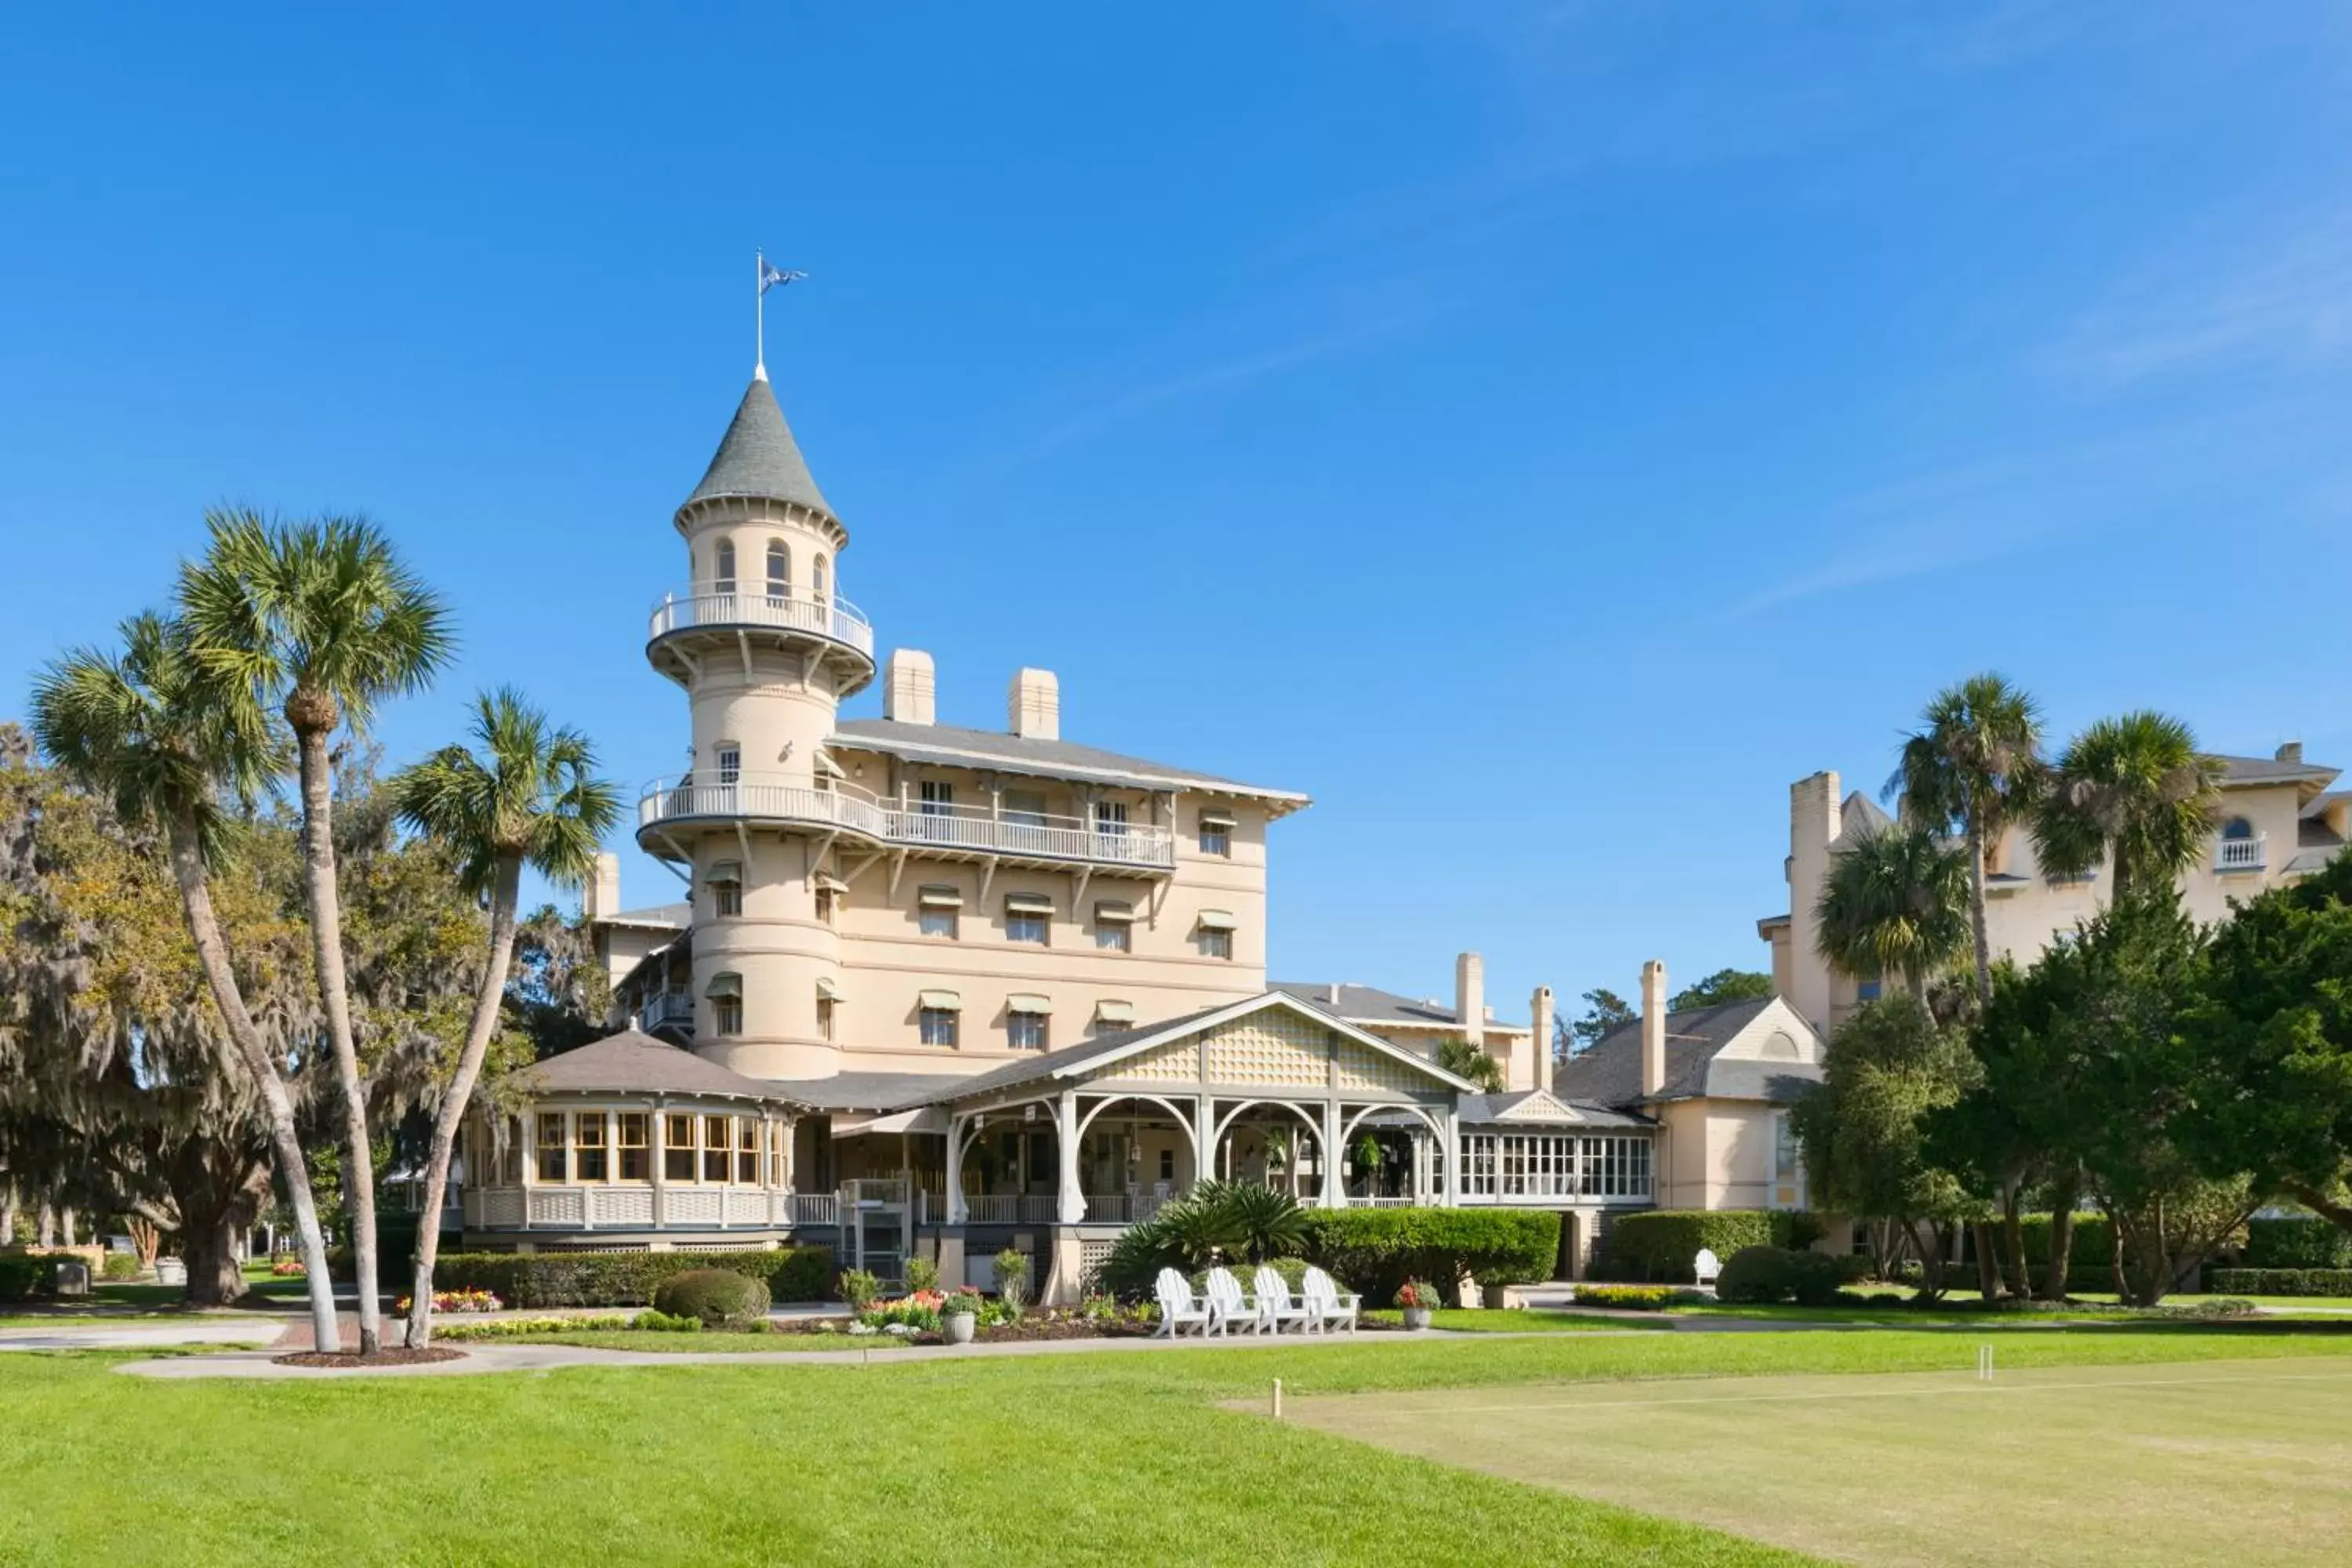
<instances>
[{"instance_id":1,"label":"trimmed green boxy hedge just right of the sago palm, behind white chairs","mask_svg":"<svg viewBox=\"0 0 2352 1568\"><path fill-rule=\"evenodd\" d=\"M1559 1215L1541 1208L1312 1208L1303 1218L1298 1251L1371 1307L1414 1276L1454 1295L1463 1274L1517 1286L1550 1279L1559 1258Z\"/></svg>"}]
</instances>

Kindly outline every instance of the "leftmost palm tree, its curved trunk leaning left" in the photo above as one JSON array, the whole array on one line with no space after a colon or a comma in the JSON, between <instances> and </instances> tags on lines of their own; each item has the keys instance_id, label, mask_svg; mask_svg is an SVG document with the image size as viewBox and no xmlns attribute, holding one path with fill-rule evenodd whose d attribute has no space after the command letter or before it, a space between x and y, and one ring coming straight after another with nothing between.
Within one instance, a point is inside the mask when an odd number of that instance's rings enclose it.
<instances>
[{"instance_id":1,"label":"leftmost palm tree, its curved trunk leaning left","mask_svg":"<svg viewBox=\"0 0 2352 1568\"><path fill-rule=\"evenodd\" d=\"M310 1284L318 1349L336 1349L327 1239L310 1199L310 1168L294 1131L294 1098L261 1039L212 907L212 867L228 856L223 795L252 799L273 783L282 743L266 715L233 701L195 658L188 628L162 616L122 623L122 651L75 649L33 686L33 733L82 788L113 802L125 823L162 830L188 940L245 1072L261 1095L270 1157L294 1206Z\"/></svg>"}]
</instances>

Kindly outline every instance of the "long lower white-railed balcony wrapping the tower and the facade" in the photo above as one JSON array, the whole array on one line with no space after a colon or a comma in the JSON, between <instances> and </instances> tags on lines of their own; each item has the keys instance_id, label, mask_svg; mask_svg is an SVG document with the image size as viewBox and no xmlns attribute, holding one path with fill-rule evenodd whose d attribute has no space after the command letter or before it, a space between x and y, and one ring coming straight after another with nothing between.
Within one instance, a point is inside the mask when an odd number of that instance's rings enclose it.
<instances>
[{"instance_id":1,"label":"long lower white-railed balcony wrapping the tower and the facade","mask_svg":"<svg viewBox=\"0 0 2352 1568\"><path fill-rule=\"evenodd\" d=\"M637 797L637 844L647 853L684 860L673 830L694 823L807 827L948 860L1176 870L1176 835L1141 823L896 802L842 783L818 790L753 773L724 783L701 783L694 773L656 778Z\"/></svg>"}]
</instances>

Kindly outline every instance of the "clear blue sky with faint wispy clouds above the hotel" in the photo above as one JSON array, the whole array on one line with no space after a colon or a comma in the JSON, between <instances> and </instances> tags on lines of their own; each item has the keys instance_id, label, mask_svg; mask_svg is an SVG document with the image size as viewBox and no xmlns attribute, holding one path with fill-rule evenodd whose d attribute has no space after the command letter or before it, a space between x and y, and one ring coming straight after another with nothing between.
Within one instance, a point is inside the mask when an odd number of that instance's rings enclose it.
<instances>
[{"instance_id":1,"label":"clear blue sky with faint wispy clouds above the hotel","mask_svg":"<svg viewBox=\"0 0 2352 1568\"><path fill-rule=\"evenodd\" d=\"M82 12L0 16L0 715L343 508L461 616L395 759L517 682L673 769L767 244L844 592L1312 792L1282 978L1762 966L1788 783L1985 665L2352 762L2338 7Z\"/></svg>"}]
</instances>

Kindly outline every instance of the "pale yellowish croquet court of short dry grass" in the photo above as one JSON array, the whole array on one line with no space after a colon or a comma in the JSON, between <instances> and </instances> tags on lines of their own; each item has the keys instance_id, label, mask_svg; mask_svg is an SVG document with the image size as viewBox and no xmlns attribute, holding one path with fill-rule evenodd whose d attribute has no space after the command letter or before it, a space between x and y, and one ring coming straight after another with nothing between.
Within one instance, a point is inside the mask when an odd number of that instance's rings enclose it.
<instances>
[{"instance_id":1,"label":"pale yellowish croquet court of short dry grass","mask_svg":"<svg viewBox=\"0 0 2352 1568\"><path fill-rule=\"evenodd\" d=\"M2331 1354L1348 1394L1289 1418L1842 1561L2319 1568L2352 1540L2347 1394Z\"/></svg>"}]
</instances>

